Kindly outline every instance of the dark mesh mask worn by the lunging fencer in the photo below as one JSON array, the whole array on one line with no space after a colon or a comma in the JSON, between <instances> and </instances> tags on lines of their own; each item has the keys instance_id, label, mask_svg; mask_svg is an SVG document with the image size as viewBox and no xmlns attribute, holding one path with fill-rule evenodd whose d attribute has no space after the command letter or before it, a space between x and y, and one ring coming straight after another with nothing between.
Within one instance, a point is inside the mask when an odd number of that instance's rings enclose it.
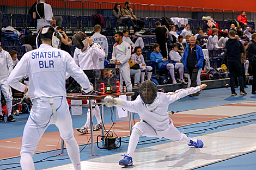
<instances>
[{"instance_id":1,"label":"dark mesh mask worn by the lunging fencer","mask_svg":"<svg viewBox=\"0 0 256 170\"><path fill-rule=\"evenodd\" d=\"M157 86L153 81L146 80L139 87L139 95L145 104L154 102L157 96Z\"/></svg>"}]
</instances>

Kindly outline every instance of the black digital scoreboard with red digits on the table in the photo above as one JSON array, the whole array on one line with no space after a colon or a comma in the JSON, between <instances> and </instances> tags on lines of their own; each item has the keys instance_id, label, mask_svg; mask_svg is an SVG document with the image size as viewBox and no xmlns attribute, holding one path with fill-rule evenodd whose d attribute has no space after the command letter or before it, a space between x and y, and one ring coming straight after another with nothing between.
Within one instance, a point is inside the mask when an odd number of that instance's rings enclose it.
<instances>
[{"instance_id":1,"label":"black digital scoreboard with red digits on the table","mask_svg":"<svg viewBox=\"0 0 256 170\"><path fill-rule=\"evenodd\" d=\"M119 68L106 68L96 70L84 70L94 90L101 93L120 92Z\"/></svg>"}]
</instances>

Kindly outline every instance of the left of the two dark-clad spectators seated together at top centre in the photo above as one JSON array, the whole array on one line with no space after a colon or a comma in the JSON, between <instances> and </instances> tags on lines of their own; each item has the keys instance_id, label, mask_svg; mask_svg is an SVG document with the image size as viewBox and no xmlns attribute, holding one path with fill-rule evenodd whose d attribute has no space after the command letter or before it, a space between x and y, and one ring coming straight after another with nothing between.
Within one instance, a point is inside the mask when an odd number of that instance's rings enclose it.
<instances>
[{"instance_id":1,"label":"left of the two dark-clad spectators seated together at top centre","mask_svg":"<svg viewBox=\"0 0 256 170\"><path fill-rule=\"evenodd\" d=\"M136 25L132 21L131 17L127 17L126 15L122 14L120 4L118 4L118 3L115 4L115 7L112 11L112 15L117 17L117 24L125 23L127 25L129 31L131 29L131 26L133 28L136 27Z\"/></svg>"}]
</instances>

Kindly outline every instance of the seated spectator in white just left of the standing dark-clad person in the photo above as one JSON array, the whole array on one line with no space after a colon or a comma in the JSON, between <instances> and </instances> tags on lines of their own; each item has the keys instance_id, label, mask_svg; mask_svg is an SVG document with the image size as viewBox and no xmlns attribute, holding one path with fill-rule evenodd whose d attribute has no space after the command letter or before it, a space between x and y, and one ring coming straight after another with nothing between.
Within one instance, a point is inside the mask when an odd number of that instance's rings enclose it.
<instances>
[{"instance_id":1,"label":"seated spectator in white just left of the standing dark-clad person","mask_svg":"<svg viewBox=\"0 0 256 170\"><path fill-rule=\"evenodd\" d=\"M224 38L223 36L218 40L218 29L214 28L212 29L212 35L208 38L206 48L209 50L224 48L226 41L228 41L228 37Z\"/></svg>"}]
</instances>

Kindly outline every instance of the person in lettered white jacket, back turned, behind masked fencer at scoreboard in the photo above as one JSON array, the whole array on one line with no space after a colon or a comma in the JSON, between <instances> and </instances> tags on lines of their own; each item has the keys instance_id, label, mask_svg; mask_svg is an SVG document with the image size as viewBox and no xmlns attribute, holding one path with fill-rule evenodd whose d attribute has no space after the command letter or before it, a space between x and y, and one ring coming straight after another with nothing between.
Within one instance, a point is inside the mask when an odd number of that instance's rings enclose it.
<instances>
[{"instance_id":1,"label":"person in lettered white jacket, back turned, behind masked fencer at scoreboard","mask_svg":"<svg viewBox=\"0 0 256 170\"><path fill-rule=\"evenodd\" d=\"M98 43L103 51L105 52L105 59L107 59L108 55L108 43L107 43L107 37L105 35L100 34L101 32L101 26L96 25L94 27L94 34L90 38L92 39L93 42ZM104 68L104 61L105 59L99 58L99 68L103 69Z\"/></svg>"}]
</instances>

